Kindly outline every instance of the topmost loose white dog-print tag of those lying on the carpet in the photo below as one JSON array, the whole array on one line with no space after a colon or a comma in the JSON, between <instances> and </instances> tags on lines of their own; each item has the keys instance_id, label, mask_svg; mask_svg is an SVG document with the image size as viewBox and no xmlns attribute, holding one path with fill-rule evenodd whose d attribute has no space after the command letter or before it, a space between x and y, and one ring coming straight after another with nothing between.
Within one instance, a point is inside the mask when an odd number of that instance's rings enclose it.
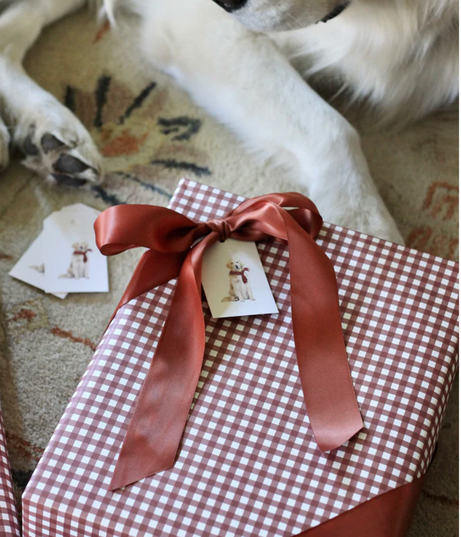
<instances>
[{"instance_id":1,"label":"topmost loose white dog-print tag of those lying on the carpet","mask_svg":"<svg viewBox=\"0 0 461 537\"><path fill-rule=\"evenodd\" d=\"M66 207L45 218L45 291L69 293L109 292L107 259L99 253L91 207Z\"/></svg>"}]
</instances>

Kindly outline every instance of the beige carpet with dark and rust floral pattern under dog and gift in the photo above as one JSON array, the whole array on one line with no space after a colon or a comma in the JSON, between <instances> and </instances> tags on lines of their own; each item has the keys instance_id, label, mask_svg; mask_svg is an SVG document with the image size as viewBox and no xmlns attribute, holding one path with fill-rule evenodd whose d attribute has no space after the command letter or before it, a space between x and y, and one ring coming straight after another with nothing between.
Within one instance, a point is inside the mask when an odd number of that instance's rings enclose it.
<instances>
[{"instance_id":1,"label":"beige carpet with dark and rust floral pattern under dog and gift","mask_svg":"<svg viewBox=\"0 0 461 537\"><path fill-rule=\"evenodd\" d=\"M77 201L98 209L120 202L166 205L182 176L247 196L296 189L138 59L133 21L118 33L96 36L92 16L78 13L49 28L26 62L88 126L106 156L103 187L49 187L17 162L0 177L0 395L18 494L138 257L110 260L109 294L45 296L8 276L43 218ZM401 133L379 132L372 120L359 127L379 189L408 243L456 258L457 114L438 114ZM412 537L457 535L457 402L455 389Z\"/></svg>"}]
</instances>

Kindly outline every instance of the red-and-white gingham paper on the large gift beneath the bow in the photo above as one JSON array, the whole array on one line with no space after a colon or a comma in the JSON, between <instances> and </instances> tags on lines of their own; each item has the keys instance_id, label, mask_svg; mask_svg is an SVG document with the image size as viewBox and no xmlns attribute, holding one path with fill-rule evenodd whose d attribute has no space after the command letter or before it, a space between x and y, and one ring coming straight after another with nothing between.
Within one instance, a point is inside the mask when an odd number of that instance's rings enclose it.
<instances>
[{"instance_id":1,"label":"red-and-white gingham paper on the large gift beneath the bow","mask_svg":"<svg viewBox=\"0 0 461 537\"><path fill-rule=\"evenodd\" d=\"M243 198L182 180L196 221ZM107 487L174 282L118 311L23 496L24 537L291 537L426 472L457 369L457 265L326 223L365 428L321 453L294 355L288 252L258 245L279 314L211 319L177 462ZM187 337L187 334L184 334Z\"/></svg>"}]
</instances>

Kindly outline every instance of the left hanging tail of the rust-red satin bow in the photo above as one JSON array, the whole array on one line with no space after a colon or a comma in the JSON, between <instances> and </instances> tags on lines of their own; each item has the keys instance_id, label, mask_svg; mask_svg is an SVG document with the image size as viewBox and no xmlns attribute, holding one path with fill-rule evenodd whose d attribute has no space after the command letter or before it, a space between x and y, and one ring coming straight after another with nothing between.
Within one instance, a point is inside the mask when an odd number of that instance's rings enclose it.
<instances>
[{"instance_id":1,"label":"left hanging tail of the rust-red satin bow","mask_svg":"<svg viewBox=\"0 0 461 537\"><path fill-rule=\"evenodd\" d=\"M191 250L179 275L170 313L141 388L109 489L167 470L182 438L205 348L201 259L207 237Z\"/></svg>"}]
</instances>

